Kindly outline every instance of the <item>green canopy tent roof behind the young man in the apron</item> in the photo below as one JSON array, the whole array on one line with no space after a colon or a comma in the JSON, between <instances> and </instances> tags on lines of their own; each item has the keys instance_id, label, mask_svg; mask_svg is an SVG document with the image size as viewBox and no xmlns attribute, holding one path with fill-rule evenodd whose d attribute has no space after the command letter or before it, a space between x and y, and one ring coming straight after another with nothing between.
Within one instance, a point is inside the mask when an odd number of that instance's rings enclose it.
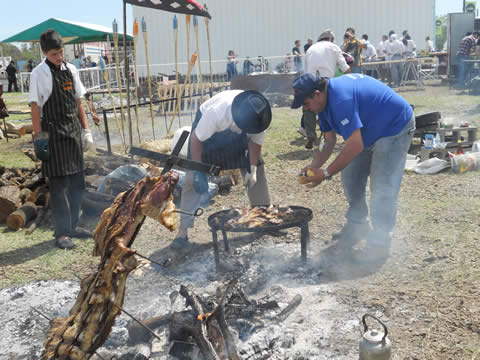
<instances>
[{"instance_id":1,"label":"green canopy tent roof behind the young man in the apron","mask_svg":"<svg viewBox=\"0 0 480 360\"><path fill-rule=\"evenodd\" d=\"M108 41L113 37L112 29L106 26L51 18L1 42L39 42L40 35L47 29L57 31L65 44ZM123 40L123 35L118 35ZM127 35L127 40L133 41L133 37Z\"/></svg>"}]
</instances>

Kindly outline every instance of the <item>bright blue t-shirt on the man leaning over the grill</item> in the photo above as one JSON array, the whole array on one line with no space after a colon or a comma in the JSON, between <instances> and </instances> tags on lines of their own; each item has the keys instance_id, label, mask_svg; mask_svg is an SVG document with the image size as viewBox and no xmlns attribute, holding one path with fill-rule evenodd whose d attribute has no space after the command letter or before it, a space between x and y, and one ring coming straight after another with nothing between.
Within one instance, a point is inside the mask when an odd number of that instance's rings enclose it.
<instances>
[{"instance_id":1,"label":"bright blue t-shirt on the man leaning over the grill","mask_svg":"<svg viewBox=\"0 0 480 360\"><path fill-rule=\"evenodd\" d=\"M328 80L327 105L318 114L320 130L334 130L345 140L361 129L363 145L398 134L410 121L412 107L382 82L363 74Z\"/></svg>"}]
</instances>

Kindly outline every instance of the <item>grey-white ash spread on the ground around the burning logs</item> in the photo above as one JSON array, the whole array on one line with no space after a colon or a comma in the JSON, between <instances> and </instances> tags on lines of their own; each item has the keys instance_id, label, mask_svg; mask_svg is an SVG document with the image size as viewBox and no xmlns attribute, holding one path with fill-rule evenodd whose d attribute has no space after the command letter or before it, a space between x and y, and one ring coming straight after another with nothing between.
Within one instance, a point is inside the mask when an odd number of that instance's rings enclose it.
<instances>
[{"instance_id":1,"label":"grey-white ash spread on the ground around the burning logs","mask_svg":"<svg viewBox=\"0 0 480 360\"><path fill-rule=\"evenodd\" d=\"M248 237L247 237L248 238ZM195 247L195 245L193 245ZM275 300L280 309L266 312L260 325L234 327L241 359L353 359L358 357L361 336L359 319L365 309L352 310L335 297L338 283L328 280L324 268L331 267L318 253L309 252L309 261L300 260L299 234L289 233L286 240L264 236L248 241L232 241L232 253L221 252L222 261L231 268L216 273L211 247L184 250L182 261L168 268L147 265L132 272L127 283L124 309L144 320L185 310L180 296L173 303L170 294L181 285L190 286L196 294L208 297L238 277L240 287L250 300ZM158 250L155 260L164 254ZM49 318L65 317L75 302L78 282L41 281L22 287L0 290L0 360L40 359L49 323L34 309ZM302 302L286 318L276 315L295 295ZM154 339L150 357L137 353L129 339L127 325L132 320L123 313L108 340L98 353L106 359L175 359L169 355L171 344L168 327L156 331L162 340ZM198 352L197 352L198 354ZM198 357L194 357L198 358ZM92 359L99 359L93 356Z\"/></svg>"}]
</instances>

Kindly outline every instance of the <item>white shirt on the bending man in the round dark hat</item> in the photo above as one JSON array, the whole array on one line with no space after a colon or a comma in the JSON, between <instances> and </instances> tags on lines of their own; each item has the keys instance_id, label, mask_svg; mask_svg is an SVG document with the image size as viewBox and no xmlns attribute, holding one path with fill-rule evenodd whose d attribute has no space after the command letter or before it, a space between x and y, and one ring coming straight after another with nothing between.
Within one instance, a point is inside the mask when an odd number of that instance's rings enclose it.
<instances>
[{"instance_id":1,"label":"white shirt on the bending man in the round dark hat","mask_svg":"<svg viewBox=\"0 0 480 360\"><path fill-rule=\"evenodd\" d=\"M233 99L242 92L243 90L222 91L200 105L202 117L195 128L198 140L206 141L215 133L225 130L231 130L237 134L242 132L233 121L232 116ZM255 144L263 145L265 131L258 134L247 134L247 137Z\"/></svg>"}]
</instances>

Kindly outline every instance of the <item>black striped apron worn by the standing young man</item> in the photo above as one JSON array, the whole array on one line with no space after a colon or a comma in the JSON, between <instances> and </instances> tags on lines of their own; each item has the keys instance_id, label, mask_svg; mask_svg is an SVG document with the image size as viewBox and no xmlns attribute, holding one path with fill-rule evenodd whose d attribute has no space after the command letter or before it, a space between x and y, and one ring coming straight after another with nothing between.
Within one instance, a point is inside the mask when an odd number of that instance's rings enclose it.
<instances>
[{"instance_id":1,"label":"black striped apron worn by the standing young man","mask_svg":"<svg viewBox=\"0 0 480 360\"><path fill-rule=\"evenodd\" d=\"M52 93L43 105L42 131L48 132L50 158L42 162L45 176L65 176L83 171L82 128L78 118L73 75L51 69Z\"/></svg>"}]
</instances>

